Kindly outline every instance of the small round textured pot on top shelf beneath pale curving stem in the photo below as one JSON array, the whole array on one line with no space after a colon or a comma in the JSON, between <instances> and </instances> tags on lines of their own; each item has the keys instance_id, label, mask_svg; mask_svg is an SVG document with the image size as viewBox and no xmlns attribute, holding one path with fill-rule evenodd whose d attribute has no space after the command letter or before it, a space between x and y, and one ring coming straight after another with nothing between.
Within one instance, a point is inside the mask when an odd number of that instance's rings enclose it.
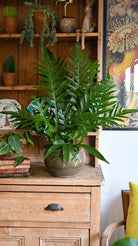
<instances>
[{"instance_id":1,"label":"small round textured pot on top shelf beneath pale curving stem","mask_svg":"<svg viewBox=\"0 0 138 246\"><path fill-rule=\"evenodd\" d=\"M75 32L76 31L75 19L72 17L63 17L60 20L59 28L61 32L67 32L67 33Z\"/></svg>"}]
</instances>

